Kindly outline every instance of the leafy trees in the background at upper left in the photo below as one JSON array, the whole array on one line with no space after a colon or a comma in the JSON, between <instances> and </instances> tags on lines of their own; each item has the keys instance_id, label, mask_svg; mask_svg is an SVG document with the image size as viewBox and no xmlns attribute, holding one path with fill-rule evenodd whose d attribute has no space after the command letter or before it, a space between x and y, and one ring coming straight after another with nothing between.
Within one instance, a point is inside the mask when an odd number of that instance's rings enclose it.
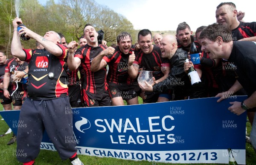
<instances>
[{"instance_id":1,"label":"leafy trees in the background at upper left","mask_svg":"<svg viewBox=\"0 0 256 165\"><path fill-rule=\"evenodd\" d=\"M105 32L104 40L115 43L116 35L122 31L132 32L133 25L121 14L94 0L48 0L45 6L38 0L0 1L0 50L11 58L11 42L13 35L12 19L19 12L23 24L33 32L44 35L55 31L64 34L66 41L78 41L83 35L86 23L95 26L96 30ZM35 40L21 41L25 49L35 48Z\"/></svg>"}]
</instances>

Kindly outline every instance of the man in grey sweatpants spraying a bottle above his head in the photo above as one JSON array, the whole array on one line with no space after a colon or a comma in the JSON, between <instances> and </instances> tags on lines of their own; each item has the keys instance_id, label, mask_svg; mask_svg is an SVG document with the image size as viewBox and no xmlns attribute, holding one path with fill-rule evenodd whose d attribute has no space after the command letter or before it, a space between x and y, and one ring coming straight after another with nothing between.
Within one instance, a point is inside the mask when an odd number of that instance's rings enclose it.
<instances>
[{"instance_id":1,"label":"man in grey sweatpants spraying a bottle above his head","mask_svg":"<svg viewBox=\"0 0 256 165\"><path fill-rule=\"evenodd\" d=\"M12 22L12 55L29 62L29 97L20 109L19 120L26 127L18 127L17 130L17 160L27 165L34 164L46 130L62 160L70 159L73 165L83 165L76 154L76 143L65 141L65 137L75 139L67 87L67 49L73 52L78 44L70 42L68 48L61 45L61 37L54 31L46 32L44 37L25 26L20 26L22 29L17 31L18 23L22 20L17 17ZM40 43L44 49L22 49L19 36L23 34ZM26 156L20 156L22 154L18 151L23 151Z\"/></svg>"}]
</instances>

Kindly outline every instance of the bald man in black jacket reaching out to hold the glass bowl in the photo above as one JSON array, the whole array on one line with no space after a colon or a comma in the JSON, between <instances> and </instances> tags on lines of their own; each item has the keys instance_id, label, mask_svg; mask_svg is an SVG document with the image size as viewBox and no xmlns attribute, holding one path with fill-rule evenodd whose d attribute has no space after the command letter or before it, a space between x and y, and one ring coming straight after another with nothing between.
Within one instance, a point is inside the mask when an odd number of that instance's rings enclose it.
<instances>
[{"instance_id":1,"label":"bald man in black jacket reaching out to hold the glass bowl","mask_svg":"<svg viewBox=\"0 0 256 165\"><path fill-rule=\"evenodd\" d=\"M177 48L177 39L172 35L163 37L160 49L162 58L169 59L171 67L169 77L153 86L147 82L145 82L145 86L139 83L140 88L144 91L154 91L156 93L173 89L175 93L174 100L183 100L187 96L186 91L188 91L187 88L190 84L188 76L184 76L186 73L183 69L187 52L181 48Z\"/></svg>"}]
</instances>

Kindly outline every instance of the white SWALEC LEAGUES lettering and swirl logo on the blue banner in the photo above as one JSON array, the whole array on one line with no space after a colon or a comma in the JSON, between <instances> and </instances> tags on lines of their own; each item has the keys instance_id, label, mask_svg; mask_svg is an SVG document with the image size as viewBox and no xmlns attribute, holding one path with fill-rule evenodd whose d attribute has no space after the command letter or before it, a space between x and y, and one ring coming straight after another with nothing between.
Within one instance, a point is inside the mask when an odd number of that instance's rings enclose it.
<instances>
[{"instance_id":1,"label":"white SWALEC LEAGUES lettering and swirl logo on the blue banner","mask_svg":"<svg viewBox=\"0 0 256 165\"><path fill-rule=\"evenodd\" d=\"M75 127L80 132L90 128L90 122L81 117ZM96 119L96 131L99 133L110 133L112 144L173 144L175 134L164 134L166 131L174 130L172 125L174 118L170 115L152 116L147 119ZM143 122L140 122L143 121ZM143 123L143 124L142 124ZM128 135L127 135L128 134Z\"/></svg>"}]
</instances>

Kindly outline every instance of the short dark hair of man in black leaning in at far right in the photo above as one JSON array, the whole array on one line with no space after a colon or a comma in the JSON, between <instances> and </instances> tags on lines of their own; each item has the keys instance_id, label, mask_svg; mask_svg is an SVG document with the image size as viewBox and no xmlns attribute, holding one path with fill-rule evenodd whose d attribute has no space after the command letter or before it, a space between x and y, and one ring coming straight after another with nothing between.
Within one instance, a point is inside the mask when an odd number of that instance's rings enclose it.
<instances>
[{"instance_id":1,"label":"short dark hair of man in black leaning in at far right","mask_svg":"<svg viewBox=\"0 0 256 165\"><path fill-rule=\"evenodd\" d=\"M208 38L210 41L216 41L218 36L220 36L224 42L232 41L231 31L225 26L217 23L213 23L204 28L199 38Z\"/></svg>"}]
</instances>

